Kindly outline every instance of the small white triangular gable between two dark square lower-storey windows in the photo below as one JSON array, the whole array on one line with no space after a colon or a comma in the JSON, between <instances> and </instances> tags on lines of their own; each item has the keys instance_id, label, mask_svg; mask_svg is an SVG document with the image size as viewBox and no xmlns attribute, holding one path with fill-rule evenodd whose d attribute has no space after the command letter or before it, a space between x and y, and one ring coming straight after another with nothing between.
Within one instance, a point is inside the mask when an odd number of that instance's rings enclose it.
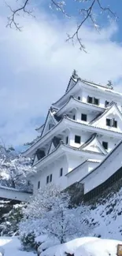
<instances>
[{"instance_id":1,"label":"small white triangular gable between two dark square lower-storey windows","mask_svg":"<svg viewBox=\"0 0 122 256\"><path fill-rule=\"evenodd\" d=\"M91 138L88 139L86 143L83 143L83 145L79 147L79 150L93 150L92 147L94 147L95 152L107 154L107 151L102 146L102 143L99 142L98 136L96 133L91 135Z\"/></svg>"}]
</instances>

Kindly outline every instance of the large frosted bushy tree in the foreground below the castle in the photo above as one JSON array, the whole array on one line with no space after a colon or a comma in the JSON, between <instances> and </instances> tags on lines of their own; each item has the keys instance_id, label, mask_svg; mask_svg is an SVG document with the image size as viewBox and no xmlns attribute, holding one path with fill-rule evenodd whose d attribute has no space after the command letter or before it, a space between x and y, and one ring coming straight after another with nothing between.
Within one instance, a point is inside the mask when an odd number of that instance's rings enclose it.
<instances>
[{"instance_id":1,"label":"large frosted bushy tree in the foreground below the castle","mask_svg":"<svg viewBox=\"0 0 122 256\"><path fill-rule=\"evenodd\" d=\"M31 198L20 223L20 236L28 236L30 232L35 236L44 234L64 243L67 239L87 234L83 217L89 215L88 208L72 208L68 193L50 185Z\"/></svg>"}]
</instances>

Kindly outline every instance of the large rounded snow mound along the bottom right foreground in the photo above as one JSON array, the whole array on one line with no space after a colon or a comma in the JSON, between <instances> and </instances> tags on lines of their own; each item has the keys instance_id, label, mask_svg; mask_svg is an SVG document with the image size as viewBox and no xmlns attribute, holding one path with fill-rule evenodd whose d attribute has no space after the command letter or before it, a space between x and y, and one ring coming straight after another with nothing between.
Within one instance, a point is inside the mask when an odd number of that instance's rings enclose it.
<instances>
[{"instance_id":1,"label":"large rounded snow mound along the bottom right foreground","mask_svg":"<svg viewBox=\"0 0 122 256\"><path fill-rule=\"evenodd\" d=\"M83 237L72 241L50 247L43 251L40 256L116 256L117 245L121 241L110 239L97 239L94 237Z\"/></svg>"}]
</instances>

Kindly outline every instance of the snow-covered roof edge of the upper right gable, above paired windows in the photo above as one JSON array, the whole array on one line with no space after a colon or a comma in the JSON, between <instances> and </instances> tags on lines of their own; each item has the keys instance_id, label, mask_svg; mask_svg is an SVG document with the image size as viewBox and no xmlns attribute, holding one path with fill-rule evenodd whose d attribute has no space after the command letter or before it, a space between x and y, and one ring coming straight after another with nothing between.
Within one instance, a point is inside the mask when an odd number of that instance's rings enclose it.
<instances>
[{"instance_id":1,"label":"snow-covered roof edge of the upper right gable, above paired windows","mask_svg":"<svg viewBox=\"0 0 122 256\"><path fill-rule=\"evenodd\" d=\"M115 109L116 111L116 115L120 117L121 121L122 121L122 113L120 113L120 109L118 109L117 105L115 102L111 102L110 106L105 109L105 111L102 114L98 114L97 117L95 117L90 124L95 124L98 120L101 120L102 117L105 117L105 115L109 115L109 113L113 113L113 109Z\"/></svg>"}]
</instances>

